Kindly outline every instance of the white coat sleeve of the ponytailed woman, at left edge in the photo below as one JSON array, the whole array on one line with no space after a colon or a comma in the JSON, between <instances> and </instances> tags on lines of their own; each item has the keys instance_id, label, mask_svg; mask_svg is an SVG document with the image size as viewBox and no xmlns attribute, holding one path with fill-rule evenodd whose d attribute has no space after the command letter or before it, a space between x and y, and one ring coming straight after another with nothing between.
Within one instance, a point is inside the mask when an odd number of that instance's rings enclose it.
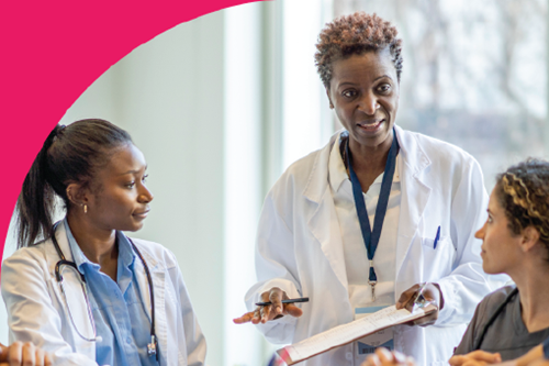
<instances>
[{"instance_id":1,"label":"white coat sleeve of the ponytailed woman, at left edge","mask_svg":"<svg viewBox=\"0 0 549 366\"><path fill-rule=\"evenodd\" d=\"M32 342L51 353L54 365L97 366L61 335L61 319L52 303L48 281L55 281L37 258L20 249L2 264L2 297L8 310L10 342ZM36 251L37 252L37 251Z\"/></svg>"}]
</instances>

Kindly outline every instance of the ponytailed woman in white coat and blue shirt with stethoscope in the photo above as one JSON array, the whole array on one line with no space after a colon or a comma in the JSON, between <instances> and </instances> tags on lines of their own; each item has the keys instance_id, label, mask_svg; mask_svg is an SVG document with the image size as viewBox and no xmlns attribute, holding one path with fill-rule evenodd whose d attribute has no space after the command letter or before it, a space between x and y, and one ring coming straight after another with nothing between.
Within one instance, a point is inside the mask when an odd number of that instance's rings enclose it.
<instances>
[{"instance_id":1,"label":"ponytailed woman in white coat and blue shirt with stethoscope","mask_svg":"<svg viewBox=\"0 0 549 366\"><path fill-rule=\"evenodd\" d=\"M11 341L34 343L54 365L203 365L173 254L123 233L150 210L146 168L110 122L52 131L18 201L20 249L2 266ZM56 198L66 217L54 224Z\"/></svg>"}]
</instances>

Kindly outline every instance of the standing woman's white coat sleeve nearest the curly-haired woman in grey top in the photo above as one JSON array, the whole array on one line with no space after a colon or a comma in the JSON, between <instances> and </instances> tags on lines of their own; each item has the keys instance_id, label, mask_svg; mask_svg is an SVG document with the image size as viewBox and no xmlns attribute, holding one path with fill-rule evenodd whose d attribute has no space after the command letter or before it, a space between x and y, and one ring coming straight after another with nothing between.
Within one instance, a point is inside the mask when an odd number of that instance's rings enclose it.
<instances>
[{"instance_id":1,"label":"standing woman's white coat sleeve nearest the curly-haired woman in grey top","mask_svg":"<svg viewBox=\"0 0 549 366\"><path fill-rule=\"evenodd\" d=\"M470 159L451 202L450 236L456 259L451 273L436 281L444 298L436 325L469 322L482 298L506 281L506 276L484 273L481 242L474 237L486 219L488 201L482 170L477 160Z\"/></svg>"}]
</instances>

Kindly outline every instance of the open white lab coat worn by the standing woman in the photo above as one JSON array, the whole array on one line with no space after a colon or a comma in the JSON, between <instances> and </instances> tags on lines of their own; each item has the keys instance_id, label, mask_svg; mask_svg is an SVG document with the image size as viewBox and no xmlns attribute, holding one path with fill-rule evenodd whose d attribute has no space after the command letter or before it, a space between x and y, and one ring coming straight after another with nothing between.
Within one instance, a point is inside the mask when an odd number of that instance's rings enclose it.
<instances>
[{"instance_id":1,"label":"open white lab coat worn by the standing woman","mask_svg":"<svg viewBox=\"0 0 549 366\"><path fill-rule=\"evenodd\" d=\"M446 365L478 302L504 278L482 270L474 232L486 215L488 195L474 158L445 142L395 127L400 143L401 212L396 240L396 298L411 286L440 285L444 309L433 326L396 326L395 348L418 365ZM268 341L295 343L354 320L339 223L328 182L328 156L339 133L298 160L268 193L256 243L258 282L246 295L251 311L272 287L290 298L309 297L299 319L257 325ZM440 226L440 240L434 239ZM365 253L366 255L366 253ZM368 268L365 268L368 270ZM354 344L304 366L352 365Z\"/></svg>"}]
</instances>

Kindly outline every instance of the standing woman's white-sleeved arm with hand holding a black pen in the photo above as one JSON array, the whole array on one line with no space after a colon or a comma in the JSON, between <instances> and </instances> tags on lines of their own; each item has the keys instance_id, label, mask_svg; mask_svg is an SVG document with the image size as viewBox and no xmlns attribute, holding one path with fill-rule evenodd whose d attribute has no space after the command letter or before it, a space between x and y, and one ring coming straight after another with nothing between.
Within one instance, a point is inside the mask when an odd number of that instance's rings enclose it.
<instances>
[{"instance_id":1,"label":"standing woman's white-sleeved arm with hand holding a black pen","mask_svg":"<svg viewBox=\"0 0 549 366\"><path fill-rule=\"evenodd\" d=\"M258 225L256 241L256 274L258 282L254 285L246 293L246 306L249 313L240 320L251 320L254 314L260 318L274 319L268 322L259 323L258 330L271 343L290 343L293 339L296 318L302 311L296 306L287 304L278 313L276 306L260 307L268 309L258 309L255 306L259 301L277 301L278 299L301 297L300 285L298 281L298 268L294 255L293 233L284 218L282 207L292 207L288 202L276 199L277 192L292 191L284 190L285 187L279 181L267 196ZM280 195L288 197L288 195ZM274 290L273 290L274 289ZM278 291L277 289L280 289ZM262 310L262 313L261 313ZM283 315L279 318L279 315ZM243 319L245 318L246 319ZM266 319L267 320L267 319ZM235 320L235 322L238 322ZM240 321L243 322L243 321Z\"/></svg>"}]
</instances>

